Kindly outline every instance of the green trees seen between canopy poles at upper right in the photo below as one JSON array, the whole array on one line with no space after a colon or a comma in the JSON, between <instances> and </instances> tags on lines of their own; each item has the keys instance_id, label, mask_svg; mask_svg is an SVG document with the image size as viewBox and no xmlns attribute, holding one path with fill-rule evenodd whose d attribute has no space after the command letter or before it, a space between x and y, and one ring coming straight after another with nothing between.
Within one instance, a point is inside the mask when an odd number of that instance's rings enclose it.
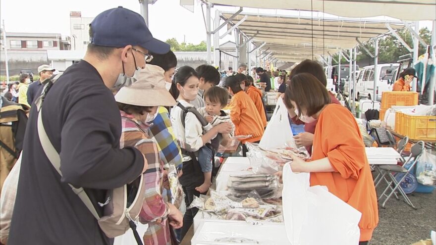
<instances>
[{"instance_id":1,"label":"green trees seen between canopy poles at upper right","mask_svg":"<svg viewBox=\"0 0 436 245\"><path fill-rule=\"evenodd\" d=\"M407 29L403 29L397 32L398 35L409 45L409 47L413 48L413 37L411 33ZM420 37L427 43L431 43L432 33L430 30L426 28L422 28L419 30ZM371 53L374 53L374 43L369 42L365 43L364 46L370 50ZM426 47L424 47L421 43L419 44L419 55L425 53ZM388 35L379 40L379 63L396 63L398 57L404 54L409 53L409 50L404 47L398 39L396 39L393 35ZM418 55L418 56L419 56ZM334 58L337 60L338 55L334 55ZM364 49L360 48L357 54L357 62L361 60L372 59ZM348 63L344 58L342 58L341 63Z\"/></svg>"}]
</instances>

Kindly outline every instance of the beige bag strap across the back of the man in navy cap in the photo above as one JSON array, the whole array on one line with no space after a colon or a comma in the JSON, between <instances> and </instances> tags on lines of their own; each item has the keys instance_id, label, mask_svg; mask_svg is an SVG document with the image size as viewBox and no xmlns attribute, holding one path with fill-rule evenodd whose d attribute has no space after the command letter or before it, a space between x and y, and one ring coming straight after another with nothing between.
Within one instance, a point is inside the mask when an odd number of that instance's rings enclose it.
<instances>
[{"instance_id":1,"label":"beige bag strap across the back of the man in navy cap","mask_svg":"<svg viewBox=\"0 0 436 245\"><path fill-rule=\"evenodd\" d=\"M58 78L58 77L57 77ZM62 172L60 171L60 156L59 153L57 153L56 149L54 148L52 142L49 139L49 136L47 135L46 130L44 129L43 124L43 117L42 117L42 102L46 96L46 94L49 92L50 88L54 84L54 81L49 81L49 83L46 84L43 90L43 94L40 98L38 98L38 101L35 102L37 104L37 110L38 110L38 136L39 140L41 142L41 146L43 147L44 153L46 154L47 158L49 158L50 162L52 163L54 169L56 169L57 173L62 177ZM73 185L69 184L71 190L76 194L82 202L86 205L86 207L89 209L89 211L92 213L92 215L99 220L100 216L97 213L97 210L95 209L94 205L92 204L91 199L86 194L85 190L80 188L75 188Z\"/></svg>"}]
</instances>

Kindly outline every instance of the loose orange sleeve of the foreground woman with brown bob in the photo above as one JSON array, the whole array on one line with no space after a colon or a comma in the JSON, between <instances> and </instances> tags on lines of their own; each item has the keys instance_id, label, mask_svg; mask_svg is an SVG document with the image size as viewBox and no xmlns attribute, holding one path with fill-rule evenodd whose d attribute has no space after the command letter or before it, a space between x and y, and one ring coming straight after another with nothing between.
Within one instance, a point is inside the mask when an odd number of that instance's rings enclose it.
<instances>
[{"instance_id":1,"label":"loose orange sleeve of the foreground woman with brown bob","mask_svg":"<svg viewBox=\"0 0 436 245\"><path fill-rule=\"evenodd\" d=\"M340 113L339 113L340 114ZM358 179L360 170L366 162L365 146L363 145L360 131L356 121L347 115L328 114L327 117L341 117L342 120L326 120L323 127L323 144L327 145L327 157L333 168L339 172L342 178ZM334 122L334 123L332 123ZM330 125L325 125L325 123ZM338 132L341 132L338 134Z\"/></svg>"}]
</instances>

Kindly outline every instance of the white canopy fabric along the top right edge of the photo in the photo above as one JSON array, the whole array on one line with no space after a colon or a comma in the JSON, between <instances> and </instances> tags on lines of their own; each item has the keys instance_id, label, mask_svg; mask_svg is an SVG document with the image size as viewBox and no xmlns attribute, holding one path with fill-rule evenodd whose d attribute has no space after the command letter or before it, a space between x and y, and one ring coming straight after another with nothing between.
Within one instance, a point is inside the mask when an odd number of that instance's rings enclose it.
<instances>
[{"instance_id":1,"label":"white canopy fabric along the top right edge of the photo","mask_svg":"<svg viewBox=\"0 0 436 245\"><path fill-rule=\"evenodd\" d=\"M389 16L401 20L436 19L435 0L205 0L254 8L321 11L343 17Z\"/></svg>"}]
</instances>

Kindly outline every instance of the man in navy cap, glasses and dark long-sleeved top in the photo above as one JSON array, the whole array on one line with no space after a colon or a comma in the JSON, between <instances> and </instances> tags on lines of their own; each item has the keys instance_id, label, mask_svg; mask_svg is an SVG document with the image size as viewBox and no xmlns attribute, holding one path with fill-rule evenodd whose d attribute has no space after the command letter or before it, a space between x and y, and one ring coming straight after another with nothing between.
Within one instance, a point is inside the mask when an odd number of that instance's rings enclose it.
<instances>
[{"instance_id":1,"label":"man in navy cap, glasses and dark long-sleeved top","mask_svg":"<svg viewBox=\"0 0 436 245\"><path fill-rule=\"evenodd\" d=\"M102 212L98 202L105 203L106 190L132 182L148 167L139 150L120 149L121 117L110 89L133 83L153 58L149 51L164 54L170 47L153 38L141 15L122 7L99 14L90 37L83 60L60 76L42 106L62 177L41 147L32 106L8 244L112 244L68 184L83 187Z\"/></svg>"}]
</instances>

